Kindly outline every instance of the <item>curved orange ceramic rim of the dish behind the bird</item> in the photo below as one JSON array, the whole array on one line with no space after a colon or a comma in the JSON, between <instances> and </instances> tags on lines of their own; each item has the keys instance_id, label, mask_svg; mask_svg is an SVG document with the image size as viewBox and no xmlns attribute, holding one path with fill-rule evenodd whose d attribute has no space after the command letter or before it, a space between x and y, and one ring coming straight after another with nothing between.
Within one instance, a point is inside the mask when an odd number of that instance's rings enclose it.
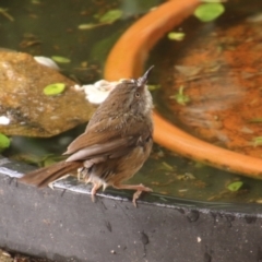
<instances>
[{"instance_id":1,"label":"curved orange ceramic rim of the dish behind the bird","mask_svg":"<svg viewBox=\"0 0 262 262\"><path fill-rule=\"evenodd\" d=\"M192 14L200 0L171 0L156 8L133 24L110 51L105 78L116 81L138 78L150 49L174 26ZM233 172L262 179L262 159L221 148L172 126L154 111L154 140L156 143L186 157Z\"/></svg>"}]
</instances>

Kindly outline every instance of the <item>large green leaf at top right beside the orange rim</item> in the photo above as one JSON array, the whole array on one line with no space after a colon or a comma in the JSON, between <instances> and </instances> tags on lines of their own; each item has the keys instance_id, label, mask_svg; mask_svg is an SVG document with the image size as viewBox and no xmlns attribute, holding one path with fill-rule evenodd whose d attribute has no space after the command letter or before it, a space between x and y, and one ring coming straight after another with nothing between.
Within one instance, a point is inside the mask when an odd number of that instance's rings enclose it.
<instances>
[{"instance_id":1,"label":"large green leaf at top right beside the orange rim","mask_svg":"<svg viewBox=\"0 0 262 262\"><path fill-rule=\"evenodd\" d=\"M204 3L195 9L194 16L196 16L202 22L210 22L217 19L224 12L225 7L222 3Z\"/></svg>"}]
</instances>

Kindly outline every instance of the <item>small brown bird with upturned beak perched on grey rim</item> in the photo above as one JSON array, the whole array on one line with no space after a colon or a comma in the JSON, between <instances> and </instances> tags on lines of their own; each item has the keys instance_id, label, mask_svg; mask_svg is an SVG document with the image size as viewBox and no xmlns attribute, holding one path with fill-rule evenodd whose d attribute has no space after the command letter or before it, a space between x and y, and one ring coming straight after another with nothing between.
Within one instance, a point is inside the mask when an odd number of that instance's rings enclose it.
<instances>
[{"instance_id":1,"label":"small brown bird with upturned beak perched on grey rim","mask_svg":"<svg viewBox=\"0 0 262 262\"><path fill-rule=\"evenodd\" d=\"M20 181L39 188L79 170L85 182L96 191L108 186L116 189L136 190L133 203L140 194L151 192L143 184L122 184L130 179L150 156L153 145L152 96L146 87L151 67L138 80L123 80L111 91L91 118L86 130L78 136L63 155L66 160L28 172Z\"/></svg>"}]
</instances>

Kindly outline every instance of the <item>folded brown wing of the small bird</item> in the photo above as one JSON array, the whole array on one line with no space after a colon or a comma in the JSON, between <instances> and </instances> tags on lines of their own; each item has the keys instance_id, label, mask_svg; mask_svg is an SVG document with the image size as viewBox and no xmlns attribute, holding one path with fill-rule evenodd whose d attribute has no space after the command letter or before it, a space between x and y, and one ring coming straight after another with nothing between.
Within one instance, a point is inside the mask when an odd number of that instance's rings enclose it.
<instances>
[{"instance_id":1,"label":"folded brown wing of the small bird","mask_svg":"<svg viewBox=\"0 0 262 262\"><path fill-rule=\"evenodd\" d=\"M102 122L107 121L107 122ZM128 123L119 124L119 119L102 120L76 138L64 153L72 154L67 162L87 159L107 155L127 154L139 141L152 134L152 124L130 118ZM100 127L106 127L100 130ZM116 154L117 152L117 154Z\"/></svg>"}]
</instances>

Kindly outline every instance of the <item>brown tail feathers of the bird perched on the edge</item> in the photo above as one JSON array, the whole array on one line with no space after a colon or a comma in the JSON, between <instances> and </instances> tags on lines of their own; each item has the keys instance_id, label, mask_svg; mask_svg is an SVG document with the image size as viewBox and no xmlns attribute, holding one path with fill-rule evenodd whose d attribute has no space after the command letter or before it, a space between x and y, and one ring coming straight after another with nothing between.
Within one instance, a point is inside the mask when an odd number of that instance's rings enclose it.
<instances>
[{"instance_id":1,"label":"brown tail feathers of the bird perched on the edge","mask_svg":"<svg viewBox=\"0 0 262 262\"><path fill-rule=\"evenodd\" d=\"M43 167L32 172L25 174L19 180L24 183L35 184L38 188L44 188L48 183L57 180L58 178L76 170L81 167L81 162L59 162L49 167Z\"/></svg>"}]
</instances>

